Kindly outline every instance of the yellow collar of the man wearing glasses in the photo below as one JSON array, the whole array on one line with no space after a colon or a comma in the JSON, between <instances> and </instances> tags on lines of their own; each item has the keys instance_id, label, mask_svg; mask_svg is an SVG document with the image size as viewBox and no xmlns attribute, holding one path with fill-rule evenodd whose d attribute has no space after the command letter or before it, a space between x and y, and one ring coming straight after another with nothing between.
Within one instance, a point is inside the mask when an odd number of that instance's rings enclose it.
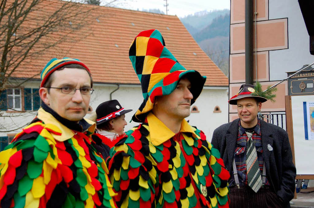
<instances>
[{"instance_id":1,"label":"yellow collar of the man wearing glasses","mask_svg":"<svg viewBox=\"0 0 314 208\"><path fill-rule=\"evenodd\" d=\"M40 119L41 121L43 121L45 124L54 125L56 128L58 128L60 130L59 132L61 132L61 135L53 134L51 132L53 138L59 142L63 142L63 141L68 140L74 136L74 133L71 129L69 129L68 127L66 127L62 123L60 123L55 117L53 117L53 115L46 112L42 108L40 108L38 110L37 118ZM91 121L91 120L88 120L88 119L85 119L85 121L87 123L91 124L91 126L88 128L88 131L94 132L95 128L96 128L96 123Z\"/></svg>"}]
</instances>

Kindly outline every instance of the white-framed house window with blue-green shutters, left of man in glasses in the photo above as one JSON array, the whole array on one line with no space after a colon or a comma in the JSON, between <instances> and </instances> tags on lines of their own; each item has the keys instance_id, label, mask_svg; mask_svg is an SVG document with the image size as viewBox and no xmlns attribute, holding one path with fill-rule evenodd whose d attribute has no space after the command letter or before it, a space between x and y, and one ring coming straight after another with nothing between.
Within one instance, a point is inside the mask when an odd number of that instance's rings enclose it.
<instances>
[{"instance_id":1,"label":"white-framed house window with blue-green shutters, left of man in glasses","mask_svg":"<svg viewBox=\"0 0 314 208\"><path fill-rule=\"evenodd\" d=\"M38 110L41 106L38 88L8 88L0 94L0 110Z\"/></svg>"}]
</instances>

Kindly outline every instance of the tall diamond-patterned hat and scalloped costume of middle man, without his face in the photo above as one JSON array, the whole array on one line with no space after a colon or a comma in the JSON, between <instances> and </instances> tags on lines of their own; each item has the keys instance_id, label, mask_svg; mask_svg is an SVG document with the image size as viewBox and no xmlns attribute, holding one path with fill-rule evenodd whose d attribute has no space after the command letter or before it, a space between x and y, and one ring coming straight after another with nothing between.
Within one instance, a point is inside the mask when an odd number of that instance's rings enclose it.
<instances>
[{"instance_id":1,"label":"tall diamond-patterned hat and scalloped costume of middle man, without his face","mask_svg":"<svg viewBox=\"0 0 314 208\"><path fill-rule=\"evenodd\" d=\"M143 123L126 132L106 161L117 206L229 207L230 175L205 134L185 119L175 134L151 113L154 97L171 94L184 74L193 78L194 102L205 77L178 63L158 30L139 33L129 54L144 97L133 120Z\"/></svg>"}]
</instances>

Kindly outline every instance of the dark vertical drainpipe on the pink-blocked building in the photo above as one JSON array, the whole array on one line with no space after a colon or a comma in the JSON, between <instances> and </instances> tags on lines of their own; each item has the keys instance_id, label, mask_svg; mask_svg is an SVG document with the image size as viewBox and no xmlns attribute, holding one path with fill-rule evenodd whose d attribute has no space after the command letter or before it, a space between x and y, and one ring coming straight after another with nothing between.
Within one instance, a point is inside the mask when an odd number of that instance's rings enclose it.
<instances>
[{"instance_id":1,"label":"dark vertical drainpipe on the pink-blocked building","mask_svg":"<svg viewBox=\"0 0 314 208\"><path fill-rule=\"evenodd\" d=\"M245 83L253 84L253 0L245 0Z\"/></svg>"}]
</instances>

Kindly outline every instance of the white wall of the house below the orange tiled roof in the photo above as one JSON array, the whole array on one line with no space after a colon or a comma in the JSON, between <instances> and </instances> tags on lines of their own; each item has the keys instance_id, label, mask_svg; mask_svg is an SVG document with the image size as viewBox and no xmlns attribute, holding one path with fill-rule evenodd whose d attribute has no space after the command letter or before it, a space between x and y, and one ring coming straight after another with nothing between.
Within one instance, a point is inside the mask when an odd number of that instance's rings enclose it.
<instances>
[{"instance_id":1,"label":"white wall of the house below the orange tiled roof","mask_svg":"<svg viewBox=\"0 0 314 208\"><path fill-rule=\"evenodd\" d=\"M38 85L39 82L29 82L24 84L24 87L38 88ZM95 110L100 103L109 100L110 93L116 89L116 87L116 85L95 84L95 91L90 100L90 105L93 110ZM138 125L138 123L133 121L129 123L129 121L140 104L143 102L141 87L139 85L121 85L120 88L112 94L112 99L117 99L125 109L133 109L132 112L126 114L126 121L128 124L125 130L129 130ZM198 100L192 106L194 105L198 107L200 112L191 113L187 120L190 120L191 125L197 126L198 129L201 129L210 141L214 129L219 125L228 122L227 90L213 88L208 89L208 87L205 87ZM221 113L213 113L215 106L219 106ZM35 117L35 114L36 111L31 113L4 113L4 115L11 115L13 117L1 118L1 125L6 126L8 129L15 129L18 126L23 126L24 124L29 123ZM4 128L0 126L0 130L3 129ZM18 133L19 131L21 131L21 129L17 129L14 132L0 132L0 136L6 136L8 133Z\"/></svg>"}]
</instances>

